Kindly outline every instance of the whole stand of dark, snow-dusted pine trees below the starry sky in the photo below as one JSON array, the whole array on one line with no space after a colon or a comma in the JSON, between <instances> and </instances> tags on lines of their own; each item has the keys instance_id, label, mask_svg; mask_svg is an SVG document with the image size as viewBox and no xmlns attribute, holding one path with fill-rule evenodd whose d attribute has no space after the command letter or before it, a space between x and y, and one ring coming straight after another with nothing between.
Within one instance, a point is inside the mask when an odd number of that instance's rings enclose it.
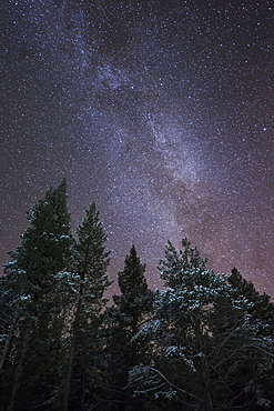
<instances>
[{"instance_id":1,"label":"whole stand of dark, snow-dusted pine trees below the starry sky","mask_svg":"<svg viewBox=\"0 0 274 411\"><path fill-rule=\"evenodd\" d=\"M62 180L28 222L0 279L0 410L273 409L274 304L235 268L169 242L150 290L132 245L108 302L95 204L73 237Z\"/></svg>"}]
</instances>

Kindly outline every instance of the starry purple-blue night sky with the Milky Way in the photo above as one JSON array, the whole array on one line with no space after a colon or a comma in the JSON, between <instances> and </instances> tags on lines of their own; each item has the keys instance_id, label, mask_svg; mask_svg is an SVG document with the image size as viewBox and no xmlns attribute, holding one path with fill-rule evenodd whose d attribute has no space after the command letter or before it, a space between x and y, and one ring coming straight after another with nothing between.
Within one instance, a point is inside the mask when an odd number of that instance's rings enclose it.
<instances>
[{"instance_id":1,"label":"starry purple-blue night sky with the Milky Way","mask_svg":"<svg viewBox=\"0 0 274 411\"><path fill-rule=\"evenodd\" d=\"M168 240L274 295L274 2L2 0L1 254L68 181L94 201L111 279Z\"/></svg>"}]
</instances>

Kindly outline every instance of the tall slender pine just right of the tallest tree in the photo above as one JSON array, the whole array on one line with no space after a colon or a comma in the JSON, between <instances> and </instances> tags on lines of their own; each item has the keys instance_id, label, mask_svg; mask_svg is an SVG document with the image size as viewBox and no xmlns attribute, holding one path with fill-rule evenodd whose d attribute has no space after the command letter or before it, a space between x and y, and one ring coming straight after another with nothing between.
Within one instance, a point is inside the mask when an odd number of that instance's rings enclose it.
<instances>
[{"instance_id":1,"label":"tall slender pine just right of the tallest tree","mask_svg":"<svg viewBox=\"0 0 274 411\"><path fill-rule=\"evenodd\" d=\"M95 204L91 203L78 229L75 243L77 302L74 305L71 342L65 371L63 410L84 408L91 401L89 388L97 380L100 359L100 328L106 300L104 291L110 285L106 275L109 252L106 234ZM73 394L72 394L73 393Z\"/></svg>"}]
</instances>

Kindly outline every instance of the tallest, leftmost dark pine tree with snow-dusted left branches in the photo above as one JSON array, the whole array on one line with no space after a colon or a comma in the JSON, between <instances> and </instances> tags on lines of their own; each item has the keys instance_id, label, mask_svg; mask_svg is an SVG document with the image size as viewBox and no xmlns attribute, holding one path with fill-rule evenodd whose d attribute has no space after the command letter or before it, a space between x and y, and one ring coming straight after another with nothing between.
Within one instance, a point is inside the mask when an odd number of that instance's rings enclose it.
<instances>
[{"instance_id":1,"label":"tallest, leftmost dark pine tree with snow-dusted left branches","mask_svg":"<svg viewBox=\"0 0 274 411\"><path fill-rule=\"evenodd\" d=\"M12 261L4 268L10 283L6 303L12 308L12 344L6 345L3 365L13 381L10 411L34 408L52 384L62 329L58 273L69 264L72 244L65 188L62 180L34 204L21 245L10 253Z\"/></svg>"}]
</instances>

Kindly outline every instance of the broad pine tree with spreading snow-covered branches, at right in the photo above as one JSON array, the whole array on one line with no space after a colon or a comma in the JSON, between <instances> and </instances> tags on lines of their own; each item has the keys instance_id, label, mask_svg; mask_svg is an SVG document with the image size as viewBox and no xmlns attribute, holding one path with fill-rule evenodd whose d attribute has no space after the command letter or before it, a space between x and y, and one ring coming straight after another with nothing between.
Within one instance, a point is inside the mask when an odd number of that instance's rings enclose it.
<instances>
[{"instance_id":1,"label":"broad pine tree with spreading snow-covered branches, at right","mask_svg":"<svg viewBox=\"0 0 274 411\"><path fill-rule=\"evenodd\" d=\"M161 399L160 409L266 407L256 372L272 367L273 339L257 333L263 321L250 315L252 302L227 275L207 270L186 239L182 245L177 251L169 243L160 263L166 289L156 292L154 319L136 335L153 347L153 357L130 371L131 387ZM251 383L257 391L241 398Z\"/></svg>"}]
</instances>

